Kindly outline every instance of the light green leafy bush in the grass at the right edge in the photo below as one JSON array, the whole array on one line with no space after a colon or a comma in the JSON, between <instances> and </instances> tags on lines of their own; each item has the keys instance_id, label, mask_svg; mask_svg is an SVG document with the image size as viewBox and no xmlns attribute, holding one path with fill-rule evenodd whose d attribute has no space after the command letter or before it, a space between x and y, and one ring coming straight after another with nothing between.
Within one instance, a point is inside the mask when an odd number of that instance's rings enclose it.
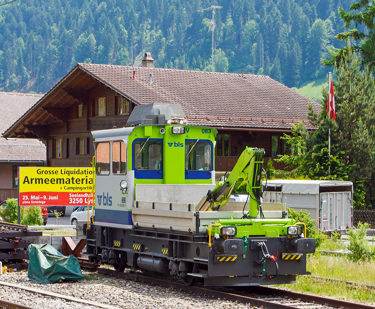
<instances>
[{"instance_id":1,"label":"light green leafy bush in the grass at the right edge","mask_svg":"<svg viewBox=\"0 0 375 309\"><path fill-rule=\"evenodd\" d=\"M348 254L348 259L353 262L366 262L375 259L375 247L370 245L366 239L366 231L369 226L368 223L358 222L357 230L352 228L347 231L349 236L348 249L353 252L353 254Z\"/></svg>"}]
</instances>

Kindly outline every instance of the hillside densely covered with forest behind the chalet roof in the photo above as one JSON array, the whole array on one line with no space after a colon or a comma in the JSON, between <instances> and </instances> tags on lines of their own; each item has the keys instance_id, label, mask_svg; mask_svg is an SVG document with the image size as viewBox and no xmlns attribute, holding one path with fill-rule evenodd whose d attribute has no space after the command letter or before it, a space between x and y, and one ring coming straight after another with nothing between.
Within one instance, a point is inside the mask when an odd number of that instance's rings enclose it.
<instances>
[{"instance_id":1,"label":"hillside densely covered with forest behind the chalet roof","mask_svg":"<svg viewBox=\"0 0 375 309\"><path fill-rule=\"evenodd\" d=\"M5 0L0 1L5 3ZM18 0L0 7L0 90L45 93L77 62L266 74L289 87L322 78L351 0Z\"/></svg>"}]
</instances>

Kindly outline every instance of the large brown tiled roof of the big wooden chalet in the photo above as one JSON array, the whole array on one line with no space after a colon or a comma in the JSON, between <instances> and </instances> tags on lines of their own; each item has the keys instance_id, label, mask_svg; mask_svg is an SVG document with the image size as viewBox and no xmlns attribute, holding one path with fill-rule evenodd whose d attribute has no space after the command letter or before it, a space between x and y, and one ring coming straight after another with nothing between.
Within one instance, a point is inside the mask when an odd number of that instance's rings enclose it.
<instances>
[{"instance_id":1,"label":"large brown tiled roof of the big wooden chalet","mask_svg":"<svg viewBox=\"0 0 375 309\"><path fill-rule=\"evenodd\" d=\"M317 102L264 75L108 64L77 66L137 104L180 103L189 124L287 129L298 120L312 128L306 117L308 104L320 110ZM152 84L148 82L150 73Z\"/></svg>"}]
</instances>

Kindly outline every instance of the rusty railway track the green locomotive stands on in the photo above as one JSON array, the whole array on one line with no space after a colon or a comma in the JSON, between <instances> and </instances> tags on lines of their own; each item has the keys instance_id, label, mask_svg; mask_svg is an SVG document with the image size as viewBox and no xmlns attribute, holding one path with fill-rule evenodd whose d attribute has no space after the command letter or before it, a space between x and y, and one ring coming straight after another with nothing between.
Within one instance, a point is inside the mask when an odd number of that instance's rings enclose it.
<instances>
[{"instance_id":1,"label":"rusty railway track the green locomotive stands on","mask_svg":"<svg viewBox=\"0 0 375 309\"><path fill-rule=\"evenodd\" d=\"M176 290L182 290L187 293L200 294L204 297L215 297L222 300L230 300L233 302L244 303L251 306L263 307L266 309L374 309L373 306L369 305L346 302L344 300L313 296L263 286L216 289L186 286L178 282L150 278L130 272L116 272L114 270L102 267L98 268L98 273L117 276L133 281L144 282L147 284L161 285L166 288L174 288Z\"/></svg>"}]
</instances>

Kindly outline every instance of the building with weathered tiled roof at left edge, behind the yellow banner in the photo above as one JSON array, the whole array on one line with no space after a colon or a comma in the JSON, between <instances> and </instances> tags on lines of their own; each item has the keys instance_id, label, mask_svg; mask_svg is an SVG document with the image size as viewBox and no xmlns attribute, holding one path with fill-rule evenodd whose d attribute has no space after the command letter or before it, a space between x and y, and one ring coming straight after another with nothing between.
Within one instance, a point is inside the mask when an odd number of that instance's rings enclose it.
<instances>
[{"instance_id":1,"label":"building with weathered tiled roof at left edge, behind the yellow banner","mask_svg":"<svg viewBox=\"0 0 375 309\"><path fill-rule=\"evenodd\" d=\"M42 98L40 94L0 92L0 133ZM19 166L43 166L46 148L37 139L0 136L0 202L17 197Z\"/></svg>"}]
</instances>

